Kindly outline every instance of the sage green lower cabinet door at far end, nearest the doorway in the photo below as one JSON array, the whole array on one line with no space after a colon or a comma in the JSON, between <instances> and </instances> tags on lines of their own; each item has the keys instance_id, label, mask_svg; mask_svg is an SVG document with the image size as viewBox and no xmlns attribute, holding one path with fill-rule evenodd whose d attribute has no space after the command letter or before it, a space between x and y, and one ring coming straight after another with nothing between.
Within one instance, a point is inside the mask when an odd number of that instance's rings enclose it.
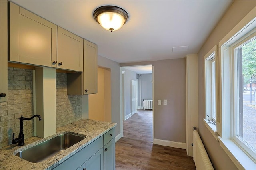
<instances>
[{"instance_id":1,"label":"sage green lower cabinet door at far end, nearest the doorway","mask_svg":"<svg viewBox=\"0 0 256 170\"><path fill-rule=\"evenodd\" d=\"M104 146L104 170L116 169L115 138Z\"/></svg>"}]
</instances>

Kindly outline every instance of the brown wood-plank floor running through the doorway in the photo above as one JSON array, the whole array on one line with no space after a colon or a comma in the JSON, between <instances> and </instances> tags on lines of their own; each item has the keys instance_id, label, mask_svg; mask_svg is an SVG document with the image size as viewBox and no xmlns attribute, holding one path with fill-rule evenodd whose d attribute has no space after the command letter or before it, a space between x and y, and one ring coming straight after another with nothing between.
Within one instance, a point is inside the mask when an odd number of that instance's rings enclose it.
<instances>
[{"instance_id":1,"label":"brown wood-plank floor running through the doorway","mask_svg":"<svg viewBox=\"0 0 256 170\"><path fill-rule=\"evenodd\" d=\"M137 111L116 142L116 170L196 170L186 150L153 144L152 111Z\"/></svg>"}]
</instances>

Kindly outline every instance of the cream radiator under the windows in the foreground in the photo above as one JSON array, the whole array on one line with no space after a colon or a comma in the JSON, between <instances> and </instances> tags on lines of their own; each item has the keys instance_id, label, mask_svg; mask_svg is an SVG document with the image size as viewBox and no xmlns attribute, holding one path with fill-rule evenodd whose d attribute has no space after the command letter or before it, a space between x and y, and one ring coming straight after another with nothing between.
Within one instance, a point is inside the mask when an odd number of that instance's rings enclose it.
<instances>
[{"instance_id":1,"label":"cream radiator under the windows in the foreground","mask_svg":"<svg viewBox=\"0 0 256 170\"><path fill-rule=\"evenodd\" d=\"M193 157L197 170L214 170L204 144L196 130L193 132Z\"/></svg>"}]
</instances>

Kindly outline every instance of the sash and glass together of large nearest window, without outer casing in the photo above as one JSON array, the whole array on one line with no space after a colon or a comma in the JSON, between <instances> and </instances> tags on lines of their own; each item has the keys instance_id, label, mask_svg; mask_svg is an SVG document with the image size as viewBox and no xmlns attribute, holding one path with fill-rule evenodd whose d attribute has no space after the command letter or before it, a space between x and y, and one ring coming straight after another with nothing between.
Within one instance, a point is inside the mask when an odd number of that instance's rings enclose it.
<instances>
[{"instance_id":1,"label":"sash and glass together of large nearest window, without outer casing","mask_svg":"<svg viewBox=\"0 0 256 170\"><path fill-rule=\"evenodd\" d=\"M230 48L231 60L234 64L232 139L256 159L256 98L252 92L256 82L256 34L243 38Z\"/></svg>"}]
</instances>

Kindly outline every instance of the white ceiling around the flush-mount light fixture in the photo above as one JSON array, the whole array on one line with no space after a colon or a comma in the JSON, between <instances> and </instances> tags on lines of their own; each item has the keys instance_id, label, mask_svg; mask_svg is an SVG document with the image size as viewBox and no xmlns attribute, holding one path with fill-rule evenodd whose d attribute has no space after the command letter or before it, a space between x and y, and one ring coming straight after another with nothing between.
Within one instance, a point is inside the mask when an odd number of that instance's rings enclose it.
<instances>
[{"instance_id":1,"label":"white ceiling around the flush-mount light fixture","mask_svg":"<svg viewBox=\"0 0 256 170\"><path fill-rule=\"evenodd\" d=\"M232 1L224 0L14 0L14 3L98 45L98 55L119 63L183 58L198 53ZM93 18L115 5L129 14L116 32ZM172 51L188 46L187 51ZM174 48L175 49L175 48ZM186 49L186 48L184 48Z\"/></svg>"}]
</instances>

